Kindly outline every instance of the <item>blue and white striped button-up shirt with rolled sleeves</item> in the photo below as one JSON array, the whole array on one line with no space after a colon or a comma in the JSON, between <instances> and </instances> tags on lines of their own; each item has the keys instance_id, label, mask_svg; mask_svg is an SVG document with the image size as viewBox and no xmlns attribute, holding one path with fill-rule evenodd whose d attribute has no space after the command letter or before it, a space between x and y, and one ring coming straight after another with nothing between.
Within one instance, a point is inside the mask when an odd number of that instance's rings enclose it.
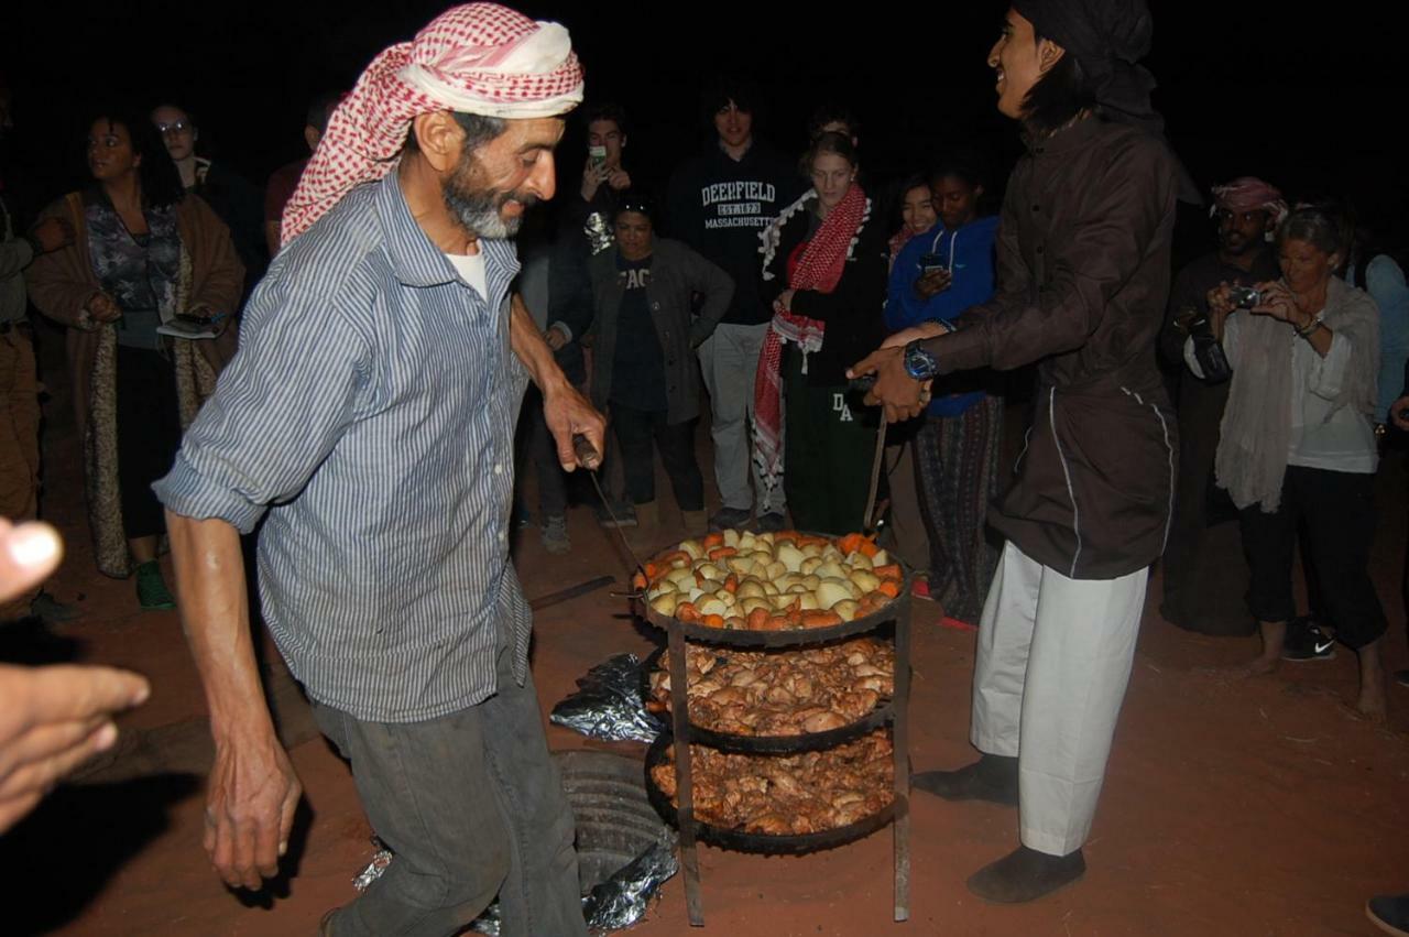
<instances>
[{"instance_id":1,"label":"blue and white striped button-up shirt with rolled sleeves","mask_svg":"<svg viewBox=\"0 0 1409 937\"><path fill-rule=\"evenodd\" d=\"M420 721L495 692L500 634L527 671L509 562L510 241L489 296L421 232L397 173L279 254L240 354L155 485L178 514L259 531L263 617L293 674L358 719Z\"/></svg>"}]
</instances>

